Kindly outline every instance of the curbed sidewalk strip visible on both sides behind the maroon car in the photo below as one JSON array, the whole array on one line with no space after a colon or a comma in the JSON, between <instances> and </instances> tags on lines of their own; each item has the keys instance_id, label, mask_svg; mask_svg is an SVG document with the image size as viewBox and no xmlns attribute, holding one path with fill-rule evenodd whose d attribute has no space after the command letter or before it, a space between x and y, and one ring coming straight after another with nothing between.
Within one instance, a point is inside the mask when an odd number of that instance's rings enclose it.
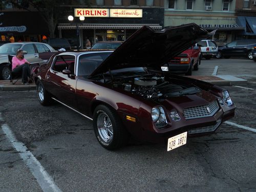
<instances>
[{"instance_id":1,"label":"curbed sidewalk strip visible on both sides behind the maroon car","mask_svg":"<svg viewBox=\"0 0 256 192\"><path fill-rule=\"evenodd\" d=\"M233 86L247 84L247 80L234 77L232 75L217 75L217 76L187 76L202 81L206 81L218 86ZM22 84L22 80L19 79L15 84L12 84L10 80L0 80L0 91L31 91L35 90L34 83L29 83L27 86Z\"/></svg>"}]
</instances>

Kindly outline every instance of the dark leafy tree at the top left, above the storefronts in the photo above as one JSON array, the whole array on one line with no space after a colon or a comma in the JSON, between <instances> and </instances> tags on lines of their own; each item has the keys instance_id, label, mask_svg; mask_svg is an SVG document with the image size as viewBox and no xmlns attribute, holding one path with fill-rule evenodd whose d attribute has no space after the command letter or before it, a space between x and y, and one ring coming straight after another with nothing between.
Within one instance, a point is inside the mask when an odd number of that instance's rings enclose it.
<instances>
[{"instance_id":1,"label":"dark leafy tree at the top left, above the storefronts","mask_svg":"<svg viewBox=\"0 0 256 192\"><path fill-rule=\"evenodd\" d=\"M50 37L54 37L54 31L58 24L59 18L63 16L65 10L63 5L71 5L69 0L6 0L0 1L0 9L3 9L6 4L12 3L18 9L32 11L36 9L49 27Z\"/></svg>"}]
</instances>

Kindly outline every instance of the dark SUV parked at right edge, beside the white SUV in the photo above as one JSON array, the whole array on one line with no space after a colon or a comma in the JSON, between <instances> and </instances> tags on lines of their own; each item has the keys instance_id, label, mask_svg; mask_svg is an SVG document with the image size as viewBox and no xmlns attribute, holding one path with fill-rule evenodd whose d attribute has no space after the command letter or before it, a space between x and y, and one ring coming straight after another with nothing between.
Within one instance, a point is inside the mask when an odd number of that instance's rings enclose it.
<instances>
[{"instance_id":1,"label":"dark SUV parked at right edge, beside the white SUV","mask_svg":"<svg viewBox=\"0 0 256 192\"><path fill-rule=\"evenodd\" d=\"M252 52L255 46L256 39L234 40L223 47L219 47L216 57L247 57L249 59L252 59Z\"/></svg>"}]
</instances>

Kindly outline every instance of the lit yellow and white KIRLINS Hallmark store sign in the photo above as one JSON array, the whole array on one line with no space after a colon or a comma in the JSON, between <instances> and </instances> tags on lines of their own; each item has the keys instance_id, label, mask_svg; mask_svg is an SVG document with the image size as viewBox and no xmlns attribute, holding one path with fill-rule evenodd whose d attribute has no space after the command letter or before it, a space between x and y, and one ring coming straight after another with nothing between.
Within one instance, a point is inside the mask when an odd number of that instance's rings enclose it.
<instances>
[{"instance_id":1,"label":"lit yellow and white KIRLINS Hallmark store sign","mask_svg":"<svg viewBox=\"0 0 256 192\"><path fill-rule=\"evenodd\" d=\"M142 9L75 9L75 17L142 17Z\"/></svg>"}]
</instances>

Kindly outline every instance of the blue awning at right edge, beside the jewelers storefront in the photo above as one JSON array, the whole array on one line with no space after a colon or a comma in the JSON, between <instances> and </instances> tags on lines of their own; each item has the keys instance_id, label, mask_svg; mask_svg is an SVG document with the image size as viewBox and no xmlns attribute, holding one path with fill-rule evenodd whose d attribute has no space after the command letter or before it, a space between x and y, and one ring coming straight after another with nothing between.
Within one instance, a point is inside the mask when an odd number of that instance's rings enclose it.
<instances>
[{"instance_id":1,"label":"blue awning at right edge, beside the jewelers storefront","mask_svg":"<svg viewBox=\"0 0 256 192\"><path fill-rule=\"evenodd\" d=\"M245 28L244 35L256 35L256 17L238 16L237 22Z\"/></svg>"}]
</instances>

